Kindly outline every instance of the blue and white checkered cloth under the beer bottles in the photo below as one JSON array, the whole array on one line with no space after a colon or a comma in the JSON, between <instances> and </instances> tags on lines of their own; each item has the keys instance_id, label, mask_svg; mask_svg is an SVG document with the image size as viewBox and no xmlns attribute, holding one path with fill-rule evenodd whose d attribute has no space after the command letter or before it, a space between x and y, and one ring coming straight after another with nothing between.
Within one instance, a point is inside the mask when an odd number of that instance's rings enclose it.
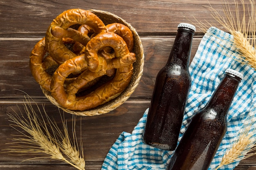
<instances>
[{"instance_id":1,"label":"blue and white checkered cloth under the beer bottles","mask_svg":"<svg viewBox=\"0 0 256 170\"><path fill-rule=\"evenodd\" d=\"M203 108L227 68L232 68L244 75L242 82L234 97L227 115L227 134L209 167L214 170L231 147L232 141L237 137L243 122L256 108L256 71L248 65L234 60L235 47L230 40L233 38L215 27L211 27L202 38L198 51L191 62L191 90L185 108L184 120L179 141L188 125L192 115ZM102 165L102 170L165 170L173 151L157 149L143 143L143 131L146 123L148 109L132 131L132 134L123 132L108 152ZM252 116L252 115L251 115ZM255 115L256 117L256 115ZM220 170L233 170L239 162L222 166Z\"/></svg>"}]
</instances>

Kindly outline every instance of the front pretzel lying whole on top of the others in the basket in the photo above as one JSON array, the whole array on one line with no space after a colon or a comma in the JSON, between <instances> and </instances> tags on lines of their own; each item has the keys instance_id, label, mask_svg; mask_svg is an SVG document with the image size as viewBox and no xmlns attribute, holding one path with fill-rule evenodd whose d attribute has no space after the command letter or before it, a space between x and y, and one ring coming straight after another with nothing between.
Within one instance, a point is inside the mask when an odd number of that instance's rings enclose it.
<instances>
[{"instance_id":1,"label":"front pretzel lying whole on top of the others in the basket","mask_svg":"<svg viewBox=\"0 0 256 170\"><path fill-rule=\"evenodd\" d=\"M92 46L93 48L91 48ZM111 46L114 49L116 58L105 59L104 57L98 57L98 50L106 46ZM73 71L79 71L87 66L86 56L88 54L94 56L98 67L94 71L90 71L88 68L89 70L83 72L73 83L69 84L65 91L63 87L65 78ZM82 55L74 57L58 67L53 75L52 96L61 106L70 110L87 110L99 106L115 98L128 86L132 75L132 63L135 60L135 54L129 52L126 43L119 35L115 33L100 33L85 46L85 57L82 57ZM105 75L106 71L112 68L117 68L117 73L110 82L100 86L88 95L75 96L79 88L96 77Z\"/></svg>"}]
</instances>

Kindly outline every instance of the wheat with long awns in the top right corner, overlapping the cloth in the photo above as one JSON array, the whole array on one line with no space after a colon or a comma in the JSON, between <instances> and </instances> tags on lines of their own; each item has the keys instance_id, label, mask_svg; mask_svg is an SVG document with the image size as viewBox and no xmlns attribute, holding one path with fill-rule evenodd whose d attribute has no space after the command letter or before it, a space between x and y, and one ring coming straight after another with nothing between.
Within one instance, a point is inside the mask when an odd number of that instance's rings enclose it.
<instances>
[{"instance_id":1,"label":"wheat with long awns in the top right corner, overlapping the cloth","mask_svg":"<svg viewBox=\"0 0 256 170\"><path fill-rule=\"evenodd\" d=\"M250 5L248 5L246 10L245 3L241 0L243 11L239 11L238 2L234 2L236 6L235 11L232 11L229 3L224 3L224 16L218 13L211 4L208 8L212 12L212 17L233 35L234 38L230 40L230 43L236 47L237 53L233 54L234 57L237 57L236 60L243 64L249 64L256 70L256 50L254 49L256 44L256 5L254 0L249 0ZM197 20L197 22L197 25L203 32L207 31L208 26L218 27L215 23L207 21L199 22Z\"/></svg>"}]
</instances>

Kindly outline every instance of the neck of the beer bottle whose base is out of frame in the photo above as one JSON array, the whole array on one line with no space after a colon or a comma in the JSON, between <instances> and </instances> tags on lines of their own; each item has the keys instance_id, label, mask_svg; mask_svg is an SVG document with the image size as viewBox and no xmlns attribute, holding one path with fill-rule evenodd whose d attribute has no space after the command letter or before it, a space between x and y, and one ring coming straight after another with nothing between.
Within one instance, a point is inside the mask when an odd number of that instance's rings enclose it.
<instances>
[{"instance_id":1,"label":"neck of the beer bottle whose base is out of frame","mask_svg":"<svg viewBox=\"0 0 256 170\"><path fill-rule=\"evenodd\" d=\"M240 77L226 74L206 108L213 110L218 115L217 117L226 118L240 81Z\"/></svg>"}]
</instances>

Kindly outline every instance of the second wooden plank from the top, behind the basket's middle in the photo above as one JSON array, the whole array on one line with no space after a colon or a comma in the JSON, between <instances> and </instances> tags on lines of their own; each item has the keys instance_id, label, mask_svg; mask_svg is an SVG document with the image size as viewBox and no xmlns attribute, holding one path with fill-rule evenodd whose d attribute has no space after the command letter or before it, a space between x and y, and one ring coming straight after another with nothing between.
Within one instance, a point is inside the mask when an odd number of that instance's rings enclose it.
<instances>
[{"instance_id":1,"label":"second wooden plank from the top, behind the basket's middle","mask_svg":"<svg viewBox=\"0 0 256 170\"><path fill-rule=\"evenodd\" d=\"M141 38L141 40L145 55L144 73L132 97L149 98L152 95L155 77L169 57L174 38ZM201 38L195 38L193 41L192 57L200 40ZM14 89L25 91L30 96L43 97L43 93L29 69L29 55L38 41L39 39L0 40L0 99L5 100L24 95Z\"/></svg>"}]
</instances>

